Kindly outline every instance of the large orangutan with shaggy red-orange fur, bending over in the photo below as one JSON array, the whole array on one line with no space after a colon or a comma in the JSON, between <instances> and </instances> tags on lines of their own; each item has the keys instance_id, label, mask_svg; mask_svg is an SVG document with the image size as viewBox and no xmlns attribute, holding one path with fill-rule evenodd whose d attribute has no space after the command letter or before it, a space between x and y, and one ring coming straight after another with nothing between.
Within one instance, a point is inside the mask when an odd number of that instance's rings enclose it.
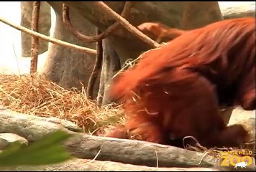
<instances>
[{"instance_id":1,"label":"large orangutan with shaggy red-orange fur, bending over","mask_svg":"<svg viewBox=\"0 0 256 172\"><path fill-rule=\"evenodd\" d=\"M114 78L109 95L123 102L127 123L109 137L182 147L239 146L242 125L227 126L219 107L255 110L255 18L229 19L180 34ZM178 143L175 143L178 140Z\"/></svg>"}]
</instances>

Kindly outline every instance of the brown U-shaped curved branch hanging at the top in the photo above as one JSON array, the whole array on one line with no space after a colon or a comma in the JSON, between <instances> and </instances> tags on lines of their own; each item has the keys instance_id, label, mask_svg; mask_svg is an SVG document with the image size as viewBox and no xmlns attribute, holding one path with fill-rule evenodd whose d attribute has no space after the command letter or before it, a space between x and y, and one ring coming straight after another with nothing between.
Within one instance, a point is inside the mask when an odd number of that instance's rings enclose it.
<instances>
[{"instance_id":1,"label":"brown U-shaped curved branch hanging at the top","mask_svg":"<svg viewBox=\"0 0 256 172\"><path fill-rule=\"evenodd\" d=\"M131 1L127 1L124 4L124 9L122 11L121 16L126 18L126 16L129 14L129 9L131 8ZM94 37L86 36L84 34L81 34L78 32L71 24L70 17L69 17L69 7L66 4L63 4L63 23L65 24L65 27L78 39L81 39L83 42L98 42L106 37L109 36L114 30L119 26L119 22L115 22L112 24L108 29L106 29L101 34L98 34Z\"/></svg>"}]
</instances>

